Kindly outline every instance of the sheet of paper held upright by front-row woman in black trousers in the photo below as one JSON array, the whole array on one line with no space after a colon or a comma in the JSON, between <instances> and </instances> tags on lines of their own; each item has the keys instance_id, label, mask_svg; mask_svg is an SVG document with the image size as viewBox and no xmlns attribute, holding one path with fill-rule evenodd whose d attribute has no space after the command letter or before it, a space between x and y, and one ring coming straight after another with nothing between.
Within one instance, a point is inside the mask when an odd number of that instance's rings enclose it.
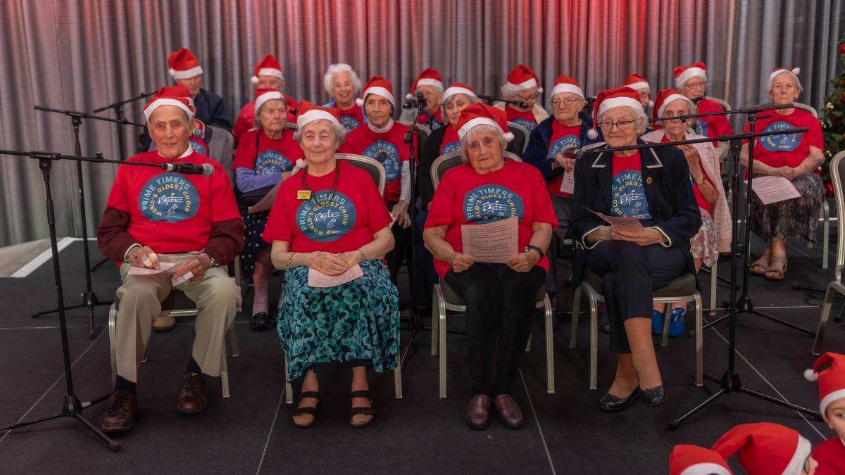
<instances>
[{"instance_id":1,"label":"sheet of paper held upright by front-row woman in black trousers","mask_svg":"<svg viewBox=\"0 0 845 475\"><path fill-rule=\"evenodd\" d=\"M516 216L485 224L461 225L464 254L476 262L504 264L519 253Z\"/></svg>"}]
</instances>

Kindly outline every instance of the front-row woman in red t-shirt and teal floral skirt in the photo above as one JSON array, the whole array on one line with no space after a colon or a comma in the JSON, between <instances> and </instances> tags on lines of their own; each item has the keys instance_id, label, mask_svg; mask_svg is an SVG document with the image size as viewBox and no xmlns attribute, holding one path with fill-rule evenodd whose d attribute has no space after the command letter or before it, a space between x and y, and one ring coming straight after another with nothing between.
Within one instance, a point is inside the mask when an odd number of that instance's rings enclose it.
<instances>
[{"instance_id":1,"label":"front-row woman in red t-shirt and teal floral skirt","mask_svg":"<svg viewBox=\"0 0 845 475\"><path fill-rule=\"evenodd\" d=\"M393 248L390 213L362 169L335 158L345 131L335 108L303 101L297 134L306 169L281 184L262 237L285 270L279 336L288 381L304 376L293 423L313 425L317 373L352 368L349 423L372 422L367 369L395 368L399 297L382 259Z\"/></svg>"}]
</instances>

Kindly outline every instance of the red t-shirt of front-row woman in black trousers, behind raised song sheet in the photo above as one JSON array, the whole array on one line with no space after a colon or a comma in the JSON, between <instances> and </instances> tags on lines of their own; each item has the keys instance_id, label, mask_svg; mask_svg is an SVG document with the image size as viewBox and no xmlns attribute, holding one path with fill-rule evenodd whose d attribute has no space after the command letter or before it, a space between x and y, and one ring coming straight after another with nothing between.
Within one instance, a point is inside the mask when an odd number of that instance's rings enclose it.
<instances>
[{"instance_id":1,"label":"red t-shirt of front-row woman in black trousers, behind raised song sheet","mask_svg":"<svg viewBox=\"0 0 845 475\"><path fill-rule=\"evenodd\" d=\"M537 168L518 161L505 161L504 167L484 175L476 173L469 164L459 165L445 172L434 192L425 227L448 226L446 242L462 253L461 225L517 216L520 221L517 244L522 252L531 240L535 222L558 227L544 185ZM548 257L543 256L537 265L548 272ZM434 270L441 279L450 269L449 264L434 259Z\"/></svg>"}]
</instances>

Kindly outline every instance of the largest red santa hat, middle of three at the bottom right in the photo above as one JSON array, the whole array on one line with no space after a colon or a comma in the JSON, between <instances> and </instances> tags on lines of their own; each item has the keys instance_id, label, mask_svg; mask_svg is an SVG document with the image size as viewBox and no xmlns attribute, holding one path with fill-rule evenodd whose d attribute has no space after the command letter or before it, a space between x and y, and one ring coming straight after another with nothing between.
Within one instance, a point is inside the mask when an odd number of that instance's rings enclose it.
<instances>
[{"instance_id":1,"label":"largest red santa hat, middle of three at the bottom right","mask_svg":"<svg viewBox=\"0 0 845 475\"><path fill-rule=\"evenodd\" d=\"M749 475L799 475L813 448L810 440L776 423L740 424L711 447L726 460L739 454Z\"/></svg>"}]
</instances>

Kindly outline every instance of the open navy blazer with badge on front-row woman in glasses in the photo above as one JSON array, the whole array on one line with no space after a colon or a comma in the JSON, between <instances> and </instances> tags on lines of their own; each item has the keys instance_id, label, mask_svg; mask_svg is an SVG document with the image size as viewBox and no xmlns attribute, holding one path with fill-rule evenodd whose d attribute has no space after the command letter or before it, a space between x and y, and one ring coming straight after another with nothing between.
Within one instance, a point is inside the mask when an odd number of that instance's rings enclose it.
<instances>
[{"instance_id":1,"label":"open navy blazer with badge on front-row woman in glasses","mask_svg":"<svg viewBox=\"0 0 845 475\"><path fill-rule=\"evenodd\" d=\"M637 139L638 144L645 144ZM600 145L602 150L608 145ZM674 147L640 150L642 186L646 192L651 224L668 236L670 246L684 253L687 268L695 274L690 254L690 239L701 228L701 211L695 202L690 184L690 168L684 153ZM575 238L586 247L584 236L607 223L586 208L610 215L613 154L585 155L575 161L575 193L572 194L572 227ZM585 208L586 207L586 208ZM660 245L660 244L657 244ZM589 252L589 251L587 251ZM622 259L622 256L620 256ZM581 280L586 266L586 253L575 256L573 282Z\"/></svg>"}]
</instances>

